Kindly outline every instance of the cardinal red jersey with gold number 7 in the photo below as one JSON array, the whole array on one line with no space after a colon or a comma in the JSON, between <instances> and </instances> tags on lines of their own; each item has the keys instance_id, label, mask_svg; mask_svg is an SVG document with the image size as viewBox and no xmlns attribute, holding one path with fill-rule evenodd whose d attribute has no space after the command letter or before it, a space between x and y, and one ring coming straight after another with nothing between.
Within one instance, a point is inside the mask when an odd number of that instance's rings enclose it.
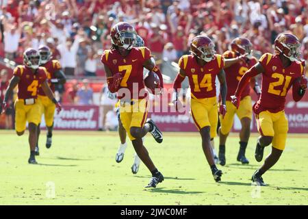
<instances>
[{"instance_id":1,"label":"cardinal red jersey with gold number 7","mask_svg":"<svg viewBox=\"0 0 308 219\"><path fill-rule=\"evenodd\" d=\"M127 88L131 95L118 92L118 99L144 99L147 92L144 89L142 64L151 58L151 51L146 47L131 49L129 55L123 57L116 49L105 50L101 62L108 66L112 74L120 73L123 77L120 88ZM140 92L140 90L144 92Z\"/></svg>"}]
</instances>

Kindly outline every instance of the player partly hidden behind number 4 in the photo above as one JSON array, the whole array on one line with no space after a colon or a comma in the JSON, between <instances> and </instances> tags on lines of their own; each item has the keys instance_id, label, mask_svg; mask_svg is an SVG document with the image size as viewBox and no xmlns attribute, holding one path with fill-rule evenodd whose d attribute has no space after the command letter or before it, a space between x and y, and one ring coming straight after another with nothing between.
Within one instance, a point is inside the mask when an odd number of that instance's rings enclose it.
<instances>
[{"instance_id":1,"label":"player partly hidden behind number 4","mask_svg":"<svg viewBox=\"0 0 308 219\"><path fill-rule=\"evenodd\" d=\"M40 66L43 66L47 70L47 79L49 87L52 92L55 92L55 84L64 84L66 82L65 75L61 70L61 64L58 60L51 59L51 50L47 46L40 46L38 48L40 53ZM38 88L38 99L40 100L40 106L42 107L42 114L47 127L47 141L46 147L51 147L51 141L53 136L53 115L55 114L55 103L53 103L48 96L44 93L42 87ZM38 124L38 138L40 136L40 124ZM38 141L36 145L36 155L39 155Z\"/></svg>"}]
</instances>

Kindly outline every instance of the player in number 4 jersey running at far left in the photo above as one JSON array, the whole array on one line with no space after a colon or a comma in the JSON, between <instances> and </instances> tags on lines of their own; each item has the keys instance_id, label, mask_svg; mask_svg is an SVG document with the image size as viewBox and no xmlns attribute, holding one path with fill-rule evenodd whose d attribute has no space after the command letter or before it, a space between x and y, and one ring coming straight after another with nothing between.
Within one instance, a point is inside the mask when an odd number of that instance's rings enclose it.
<instances>
[{"instance_id":1,"label":"player in number 4 jersey running at far left","mask_svg":"<svg viewBox=\"0 0 308 219\"><path fill-rule=\"evenodd\" d=\"M23 53L23 66L14 69L14 75L10 85L5 92L5 98L1 105L0 112L4 112L8 107L7 101L12 91L18 86L18 99L15 101L15 129L18 136L22 136L29 123L29 145L30 157L29 164L37 164L35 158L35 148L37 142L37 127L40 123L41 109L38 101L38 88L42 86L44 93L55 103L57 112L60 112L61 105L57 103L53 92L47 83L46 68L39 67L40 54L35 49L29 48Z\"/></svg>"}]
</instances>

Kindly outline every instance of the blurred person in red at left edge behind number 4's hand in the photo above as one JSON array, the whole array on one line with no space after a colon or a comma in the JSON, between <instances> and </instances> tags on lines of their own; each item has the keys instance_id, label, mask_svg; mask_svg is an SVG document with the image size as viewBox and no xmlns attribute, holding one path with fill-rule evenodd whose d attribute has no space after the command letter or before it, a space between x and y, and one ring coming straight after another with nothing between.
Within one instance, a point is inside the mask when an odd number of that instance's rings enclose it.
<instances>
[{"instance_id":1,"label":"blurred person in red at left edge behind number 4's hand","mask_svg":"<svg viewBox=\"0 0 308 219\"><path fill-rule=\"evenodd\" d=\"M2 69L0 72L0 103L2 103L5 95L5 91L9 85L8 70ZM12 114L13 114L13 98L12 96L8 99L8 109L5 110L5 129L12 129Z\"/></svg>"}]
</instances>

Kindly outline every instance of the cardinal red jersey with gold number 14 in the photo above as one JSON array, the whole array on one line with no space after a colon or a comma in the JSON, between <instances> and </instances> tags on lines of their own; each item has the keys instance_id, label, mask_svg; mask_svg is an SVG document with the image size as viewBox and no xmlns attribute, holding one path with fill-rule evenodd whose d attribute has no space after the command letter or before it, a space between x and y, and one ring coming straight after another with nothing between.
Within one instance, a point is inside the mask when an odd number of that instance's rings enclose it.
<instances>
[{"instance_id":1,"label":"cardinal red jersey with gold number 14","mask_svg":"<svg viewBox=\"0 0 308 219\"><path fill-rule=\"evenodd\" d=\"M216 96L216 75L224 67L224 58L214 55L214 60L200 66L193 55L183 55L179 60L179 68L185 71L192 98L203 99Z\"/></svg>"}]
</instances>

